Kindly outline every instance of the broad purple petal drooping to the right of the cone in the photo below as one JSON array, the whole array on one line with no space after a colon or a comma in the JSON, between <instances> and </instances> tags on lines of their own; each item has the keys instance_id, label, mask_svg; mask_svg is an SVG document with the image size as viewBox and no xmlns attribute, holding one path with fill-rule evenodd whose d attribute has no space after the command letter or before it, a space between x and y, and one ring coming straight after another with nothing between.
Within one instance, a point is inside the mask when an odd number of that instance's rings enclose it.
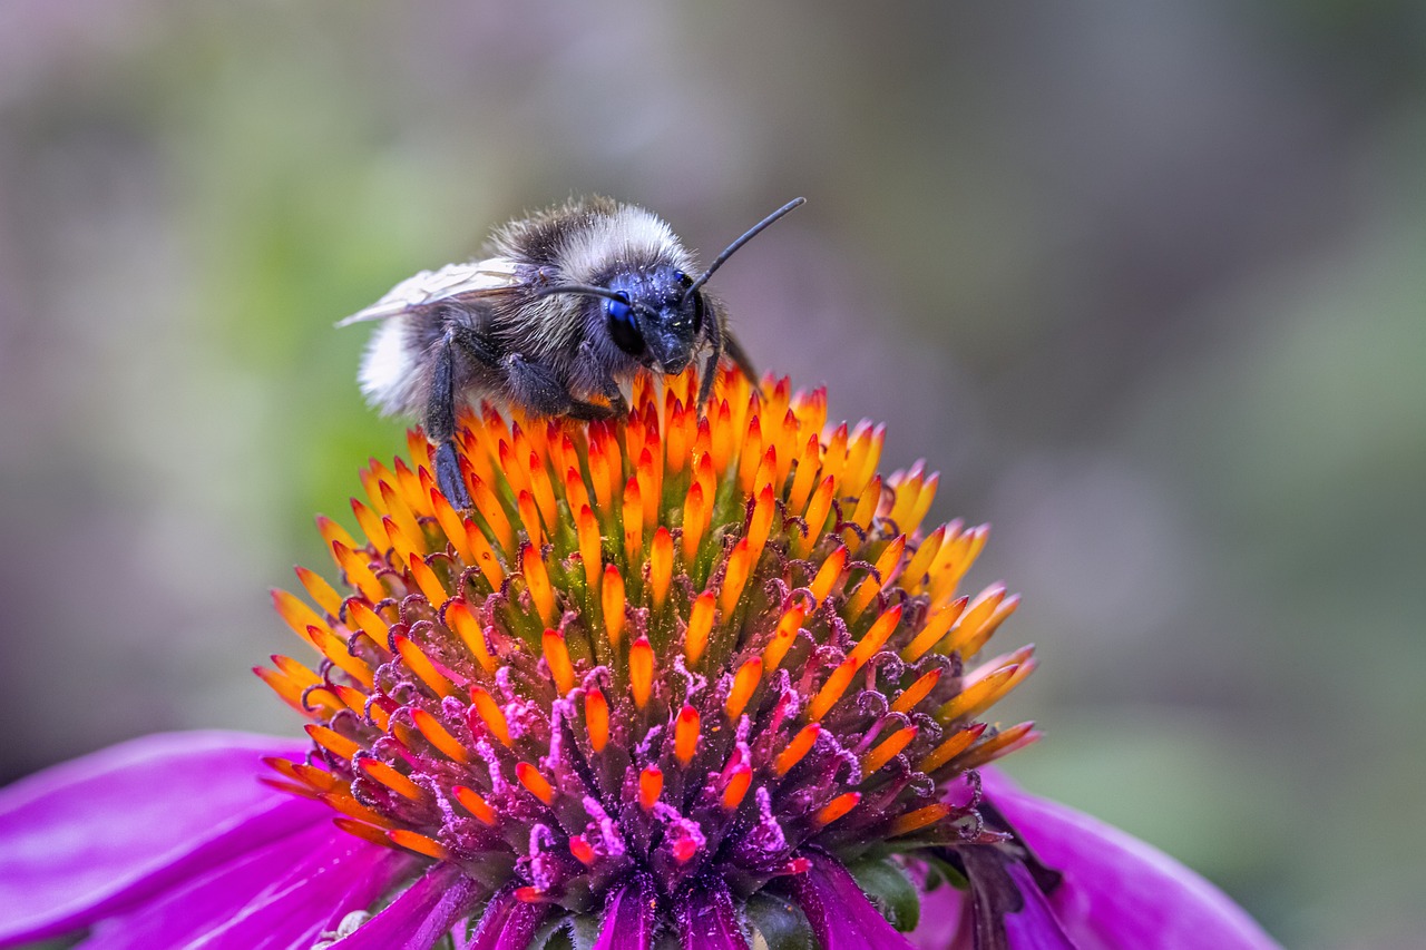
<instances>
[{"instance_id":1,"label":"broad purple petal drooping to the right of the cone","mask_svg":"<svg viewBox=\"0 0 1426 950\"><path fill-rule=\"evenodd\" d=\"M1162 852L1097 819L1020 792L987 770L985 795L1040 860L1064 873L1050 896L1081 947L1276 947L1222 892ZM1014 944L1012 946L1020 946Z\"/></svg>"}]
</instances>

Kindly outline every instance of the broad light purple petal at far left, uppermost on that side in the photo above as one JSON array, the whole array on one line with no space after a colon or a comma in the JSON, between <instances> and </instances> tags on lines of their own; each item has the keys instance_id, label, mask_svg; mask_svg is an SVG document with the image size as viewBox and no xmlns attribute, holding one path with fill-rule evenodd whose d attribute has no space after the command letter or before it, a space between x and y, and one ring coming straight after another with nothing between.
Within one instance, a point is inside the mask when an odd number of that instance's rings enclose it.
<instances>
[{"instance_id":1,"label":"broad light purple petal at far left, uppermost on that side","mask_svg":"<svg viewBox=\"0 0 1426 950\"><path fill-rule=\"evenodd\" d=\"M120 913L331 810L257 782L305 743L230 732L147 736L0 790L0 946Z\"/></svg>"}]
</instances>

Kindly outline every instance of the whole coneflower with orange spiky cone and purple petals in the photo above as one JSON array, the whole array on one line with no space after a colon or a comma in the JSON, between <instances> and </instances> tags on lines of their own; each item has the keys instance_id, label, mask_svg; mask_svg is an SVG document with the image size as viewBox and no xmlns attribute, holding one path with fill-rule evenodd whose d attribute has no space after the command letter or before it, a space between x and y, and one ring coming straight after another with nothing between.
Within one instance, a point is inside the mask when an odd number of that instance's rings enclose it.
<instances>
[{"instance_id":1,"label":"whole coneflower with orange spiky cone and purple petals","mask_svg":"<svg viewBox=\"0 0 1426 950\"><path fill-rule=\"evenodd\" d=\"M985 528L821 391L639 381L372 462L257 670L307 742L137 739L0 789L0 947L1263 950L1211 884L980 766L1015 609ZM704 411L706 409L706 411ZM261 777L261 783L260 783ZM924 896L924 902L923 902ZM923 911L924 906L924 911Z\"/></svg>"}]
</instances>

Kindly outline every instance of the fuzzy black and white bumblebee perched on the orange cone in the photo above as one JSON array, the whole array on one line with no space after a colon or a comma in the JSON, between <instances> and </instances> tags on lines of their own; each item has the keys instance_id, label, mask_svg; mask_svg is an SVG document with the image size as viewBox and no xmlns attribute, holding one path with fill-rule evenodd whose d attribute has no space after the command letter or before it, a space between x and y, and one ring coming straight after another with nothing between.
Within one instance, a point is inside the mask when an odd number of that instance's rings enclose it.
<instances>
[{"instance_id":1,"label":"fuzzy black and white bumblebee perched on the orange cone","mask_svg":"<svg viewBox=\"0 0 1426 950\"><path fill-rule=\"evenodd\" d=\"M441 491L469 508L455 448L462 399L538 417L623 414L625 381L682 372L704 347L699 405L724 355L754 377L703 285L804 201L763 218L696 277L693 255L656 215L610 198L570 201L498 228L485 260L421 271L337 325L384 321L362 358L362 392L382 414L421 418Z\"/></svg>"}]
</instances>

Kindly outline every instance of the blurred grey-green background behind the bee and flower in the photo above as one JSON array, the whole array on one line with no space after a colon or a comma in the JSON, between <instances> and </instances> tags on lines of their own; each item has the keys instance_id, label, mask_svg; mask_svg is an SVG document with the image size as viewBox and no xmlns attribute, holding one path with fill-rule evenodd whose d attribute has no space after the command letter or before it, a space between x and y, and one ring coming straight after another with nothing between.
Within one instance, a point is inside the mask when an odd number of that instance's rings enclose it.
<instances>
[{"instance_id":1,"label":"blurred grey-green background behind the bee and flower","mask_svg":"<svg viewBox=\"0 0 1426 950\"><path fill-rule=\"evenodd\" d=\"M247 670L401 427L332 321L570 194L995 525L1030 787L1299 947L1426 933L1426 7L0 4L0 779Z\"/></svg>"}]
</instances>

